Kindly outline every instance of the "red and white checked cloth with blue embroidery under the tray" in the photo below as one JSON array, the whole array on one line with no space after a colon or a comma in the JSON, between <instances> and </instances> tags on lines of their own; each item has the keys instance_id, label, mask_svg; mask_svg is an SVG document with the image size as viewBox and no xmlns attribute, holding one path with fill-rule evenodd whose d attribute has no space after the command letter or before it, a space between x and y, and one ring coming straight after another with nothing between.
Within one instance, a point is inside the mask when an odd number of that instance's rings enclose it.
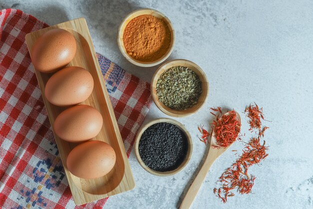
<instances>
[{"instance_id":1,"label":"red and white checked cloth with blue embroidery under the tray","mask_svg":"<svg viewBox=\"0 0 313 209\"><path fill-rule=\"evenodd\" d=\"M0 208L102 208L106 199L75 206L25 44L48 27L19 10L0 10ZM151 97L149 84L101 55L98 61L127 156Z\"/></svg>"}]
</instances>

